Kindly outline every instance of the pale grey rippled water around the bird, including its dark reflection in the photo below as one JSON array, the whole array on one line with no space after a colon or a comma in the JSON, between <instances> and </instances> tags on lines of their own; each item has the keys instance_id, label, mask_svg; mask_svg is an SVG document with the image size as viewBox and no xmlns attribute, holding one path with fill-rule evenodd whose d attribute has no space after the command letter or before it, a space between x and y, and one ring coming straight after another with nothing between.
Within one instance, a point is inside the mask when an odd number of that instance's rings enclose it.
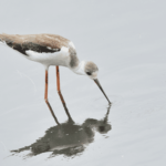
<instances>
[{"instance_id":1,"label":"pale grey rippled water around the bird, including its dark reflection","mask_svg":"<svg viewBox=\"0 0 166 166\"><path fill-rule=\"evenodd\" d=\"M60 68L65 114L49 71L0 45L0 165L166 164L166 23L164 0L0 1L0 32L56 33L80 60L94 61L112 101L85 76ZM13 151L13 152L11 152Z\"/></svg>"}]
</instances>

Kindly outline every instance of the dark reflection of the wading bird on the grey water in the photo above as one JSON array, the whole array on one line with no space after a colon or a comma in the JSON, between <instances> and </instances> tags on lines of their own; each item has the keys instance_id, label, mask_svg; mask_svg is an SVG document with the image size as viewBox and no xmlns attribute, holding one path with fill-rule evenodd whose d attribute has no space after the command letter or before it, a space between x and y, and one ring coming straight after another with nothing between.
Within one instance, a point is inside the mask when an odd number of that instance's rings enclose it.
<instances>
[{"instance_id":1,"label":"dark reflection of the wading bird on the grey water","mask_svg":"<svg viewBox=\"0 0 166 166\"><path fill-rule=\"evenodd\" d=\"M50 157L56 155L75 156L82 154L85 147L94 141L95 132L105 134L111 131L112 126L108 124L108 114L111 106L107 107L106 115L103 120L87 118L83 124L75 124L69 112L68 122L56 126L50 127L45 135L39 138L30 146L25 146L15 151L11 151L14 154L23 151L30 151L25 157L35 156L45 152L52 152ZM58 120L58 118L56 118Z\"/></svg>"}]
</instances>

